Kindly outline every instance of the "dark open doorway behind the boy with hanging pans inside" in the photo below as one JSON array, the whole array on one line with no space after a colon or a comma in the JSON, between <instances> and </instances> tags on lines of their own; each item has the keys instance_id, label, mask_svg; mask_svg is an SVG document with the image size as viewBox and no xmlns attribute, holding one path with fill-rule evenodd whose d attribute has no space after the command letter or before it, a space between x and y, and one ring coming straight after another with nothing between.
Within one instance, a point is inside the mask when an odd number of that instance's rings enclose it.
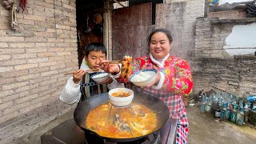
<instances>
[{"instance_id":1,"label":"dark open doorway behind the boy with hanging pans inside","mask_svg":"<svg viewBox=\"0 0 256 144\"><path fill-rule=\"evenodd\" d=\"M90 42L103 42L102 0L77 0L78 63L82 63L85 47Z\"/></svg>"}]
</instances>

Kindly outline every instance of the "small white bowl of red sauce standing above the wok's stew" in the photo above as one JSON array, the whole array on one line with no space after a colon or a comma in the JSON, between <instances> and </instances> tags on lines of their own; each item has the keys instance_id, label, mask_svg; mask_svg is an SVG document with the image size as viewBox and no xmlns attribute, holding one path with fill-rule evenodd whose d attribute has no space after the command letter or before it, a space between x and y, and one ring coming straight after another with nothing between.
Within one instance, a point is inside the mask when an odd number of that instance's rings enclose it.
<instances>
[{"instance_id":1,"label":"small white bowl of red sauce standing above the wok's stew","mask_svg":"<svg viewBox=\"0 0 256 144\"><path fill-rule=\"evenodd\" d=\"M113 93L129 93L129 96L126 97L115 97L112 94ZM115 88L109 91L109 99L110 103L114 106L119 107L126 107L129 106L130 103L133 101L134 98L134 91L126 88Z\"/></svg>"}]
</instances>

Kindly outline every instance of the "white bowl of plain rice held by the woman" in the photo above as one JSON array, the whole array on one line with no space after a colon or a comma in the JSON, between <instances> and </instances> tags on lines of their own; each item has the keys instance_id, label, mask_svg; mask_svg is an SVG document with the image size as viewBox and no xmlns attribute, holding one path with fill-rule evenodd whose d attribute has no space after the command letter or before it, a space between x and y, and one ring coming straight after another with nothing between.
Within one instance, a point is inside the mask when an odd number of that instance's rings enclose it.
<instances>
[{"instance_id":1,"label":"white bowl of plain rice held by the woman","mask_svg":"<svg viewBox=\"0 0 256 144\"><path fill-rule=\"evenodd\" d=\"M148 86L150 83L154 81L158 70L155 69L145 69L140 70L134 74L132 74L129 78L130 82L134 83L136 86Z\"/></svg>"}]
</instances>

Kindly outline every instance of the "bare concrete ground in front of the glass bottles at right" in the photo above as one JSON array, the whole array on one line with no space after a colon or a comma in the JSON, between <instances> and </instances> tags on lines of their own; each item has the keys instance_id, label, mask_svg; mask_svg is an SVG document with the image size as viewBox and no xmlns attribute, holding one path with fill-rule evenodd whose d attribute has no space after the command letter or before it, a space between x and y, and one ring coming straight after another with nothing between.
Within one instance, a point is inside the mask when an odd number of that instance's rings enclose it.
<instances>
[{"instance_id":1,"label":"bare concrete ground in front of the glass bottles at right","mask_svg":"<svg viewBox=\"0 0 256 144\"><path fill-rule=\"evenodd\" d=\"M256 128L237 126L221 122L200 113L198 106L186 107L190 123L188 143L190 144L253 144L256 143Z\"/></svg>"}]
</instances>

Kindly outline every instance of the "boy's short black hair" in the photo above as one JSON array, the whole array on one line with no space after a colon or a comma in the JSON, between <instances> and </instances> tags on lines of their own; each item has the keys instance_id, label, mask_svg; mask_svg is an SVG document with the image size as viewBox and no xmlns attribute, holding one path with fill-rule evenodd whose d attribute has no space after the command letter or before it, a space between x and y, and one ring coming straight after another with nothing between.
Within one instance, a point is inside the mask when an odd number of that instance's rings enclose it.
<instances>
[{"instance_id":1,"label":"boy's short black hair","mask_svg":"<svg viewBox=\"0 0 256 144\"><path fill-rule=\"evenodd\" d=\"M101 51L103 54L106 54L106 47L101 42L91 42L85 48L86 50L86 57L88 57L91 51Z\"/></svg>"}]
</instances>

